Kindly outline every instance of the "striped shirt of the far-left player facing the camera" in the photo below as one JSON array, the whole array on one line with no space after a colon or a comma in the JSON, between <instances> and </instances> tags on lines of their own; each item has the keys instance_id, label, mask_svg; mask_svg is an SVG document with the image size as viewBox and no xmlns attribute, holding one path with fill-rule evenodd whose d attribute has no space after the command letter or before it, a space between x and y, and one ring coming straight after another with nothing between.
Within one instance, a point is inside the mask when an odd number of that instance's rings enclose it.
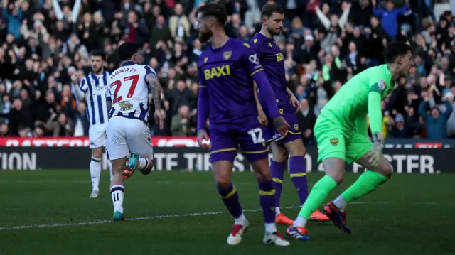
<instances>
[{"instance_id":1,"label":"striped shirt of the far-left player facing the camera","mask_svg":"<svg viewBox=\"0 0 455 255\"><path fill-rule=\"evenodd\" d=\"M87 118L90 125L107 124L108 112L106 102L106 89L109 87L107 80L109 72L95 75L90 72L80 83L80 91L88 92L87 95Z\"/></svg>"}]
</instances>

